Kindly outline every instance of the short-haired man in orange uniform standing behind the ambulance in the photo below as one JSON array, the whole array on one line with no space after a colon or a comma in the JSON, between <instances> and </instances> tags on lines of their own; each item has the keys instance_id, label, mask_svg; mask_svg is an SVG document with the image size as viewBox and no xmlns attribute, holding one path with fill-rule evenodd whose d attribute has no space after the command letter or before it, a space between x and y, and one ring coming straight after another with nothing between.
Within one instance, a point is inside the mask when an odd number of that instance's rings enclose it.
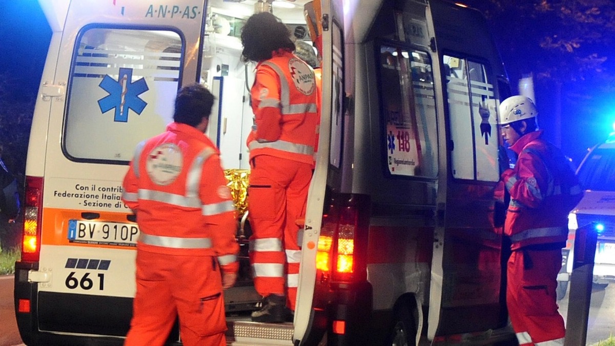
<instances>
[{"instance_id":1,"label":"short-haired man in orange uniform standing behind the ambulance","mask_svg":"<svg viewBox=\"0 0 615 346\"><path fill-rule=\"evenodd\" d=\"M199 84L181 89L175 122L137 146L124 177L140 228L125 345L165 344L177 315L184 345L226 345L223 288L236 281L239 245L220 154L204 135L213 100Z\"/></svg>"}]
</instances>

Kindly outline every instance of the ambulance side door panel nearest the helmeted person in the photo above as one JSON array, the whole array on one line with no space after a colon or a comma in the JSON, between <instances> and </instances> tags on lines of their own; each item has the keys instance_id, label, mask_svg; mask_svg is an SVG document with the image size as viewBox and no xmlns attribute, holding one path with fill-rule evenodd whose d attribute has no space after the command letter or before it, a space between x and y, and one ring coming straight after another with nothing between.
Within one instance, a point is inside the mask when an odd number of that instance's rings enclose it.
<instances>
[{"instance_id":1,"label":"ambulance side door panel nearest the helmeted person","mask_svg":"<svg viewBox=\"0 0 615 346\"><path fill-rule=\"evenodd\" d=\"M498 191L497 107L506 78L485 18L429 1L440 81L437 227L427 337L438 342L510 339L504 290L507 246ZM435 60L435 59L434 59ZM436 66L434 66L436 70ZM468 318L471 316L471 318ZM460 339L461 338L461 339Z\"/></svg>"}]
</instances>

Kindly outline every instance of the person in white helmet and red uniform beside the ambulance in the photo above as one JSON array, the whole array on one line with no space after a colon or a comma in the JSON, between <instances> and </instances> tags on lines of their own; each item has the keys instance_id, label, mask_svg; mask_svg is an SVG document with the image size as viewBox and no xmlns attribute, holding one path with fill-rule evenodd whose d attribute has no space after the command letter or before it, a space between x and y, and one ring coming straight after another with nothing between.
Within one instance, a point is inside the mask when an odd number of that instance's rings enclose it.
<instances>
[{"instance_id":1,"label":"person in white helmet and red uniform beside the ambulance","mask_svg":"<svg viewBox=\"0 0 615 346\"><path fill-rule=\"evenodd\" d=\"M555 289L568 213L582 197L565 156L544 140L537 115L525 96L509 97L499 107L502 138L518 155L514 169L502 172L502 182L510 193L504 233L512 250L506 301L520 346L564 344Z\"/></svg>"}]
</instances>

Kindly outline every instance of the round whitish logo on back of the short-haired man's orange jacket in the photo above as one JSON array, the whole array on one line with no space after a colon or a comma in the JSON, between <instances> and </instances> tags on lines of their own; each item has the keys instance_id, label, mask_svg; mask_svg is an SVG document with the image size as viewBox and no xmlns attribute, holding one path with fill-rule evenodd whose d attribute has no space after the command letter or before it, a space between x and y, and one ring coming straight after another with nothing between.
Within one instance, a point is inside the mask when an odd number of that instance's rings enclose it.
<instances>
[{"instance_id":1,"label":"round whitish logo on back of the short-haired man's orange jacket","mask_svg":"<svg viewBox=\"0 0 615 346\"><path fill-rule=\"evenodd\" d=\"M173 143L164 143L154 148L145 163L149 179L157 185L169 185L180 175L183 154Z\"/></svg>"}]
</instances>

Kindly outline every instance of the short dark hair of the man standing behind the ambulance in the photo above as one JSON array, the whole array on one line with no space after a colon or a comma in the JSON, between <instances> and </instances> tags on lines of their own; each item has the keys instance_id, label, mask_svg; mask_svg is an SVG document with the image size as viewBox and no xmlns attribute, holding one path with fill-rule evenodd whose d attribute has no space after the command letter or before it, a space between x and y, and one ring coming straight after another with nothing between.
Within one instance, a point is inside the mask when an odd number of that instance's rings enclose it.
<instances>
[{"instance_id":1,"label":"short dark hair of the man standing behind the ambulance","mask_svg":"<svg viewBox=\"0 0 615 346\"><path fill-rule=\"evenodd\" d=\"M173 120L176 123L197 126L203 118L209 118L213 100L215 97L206 87L196 83L185 86L175 98Z\"/></svg>"}]
</instances>

